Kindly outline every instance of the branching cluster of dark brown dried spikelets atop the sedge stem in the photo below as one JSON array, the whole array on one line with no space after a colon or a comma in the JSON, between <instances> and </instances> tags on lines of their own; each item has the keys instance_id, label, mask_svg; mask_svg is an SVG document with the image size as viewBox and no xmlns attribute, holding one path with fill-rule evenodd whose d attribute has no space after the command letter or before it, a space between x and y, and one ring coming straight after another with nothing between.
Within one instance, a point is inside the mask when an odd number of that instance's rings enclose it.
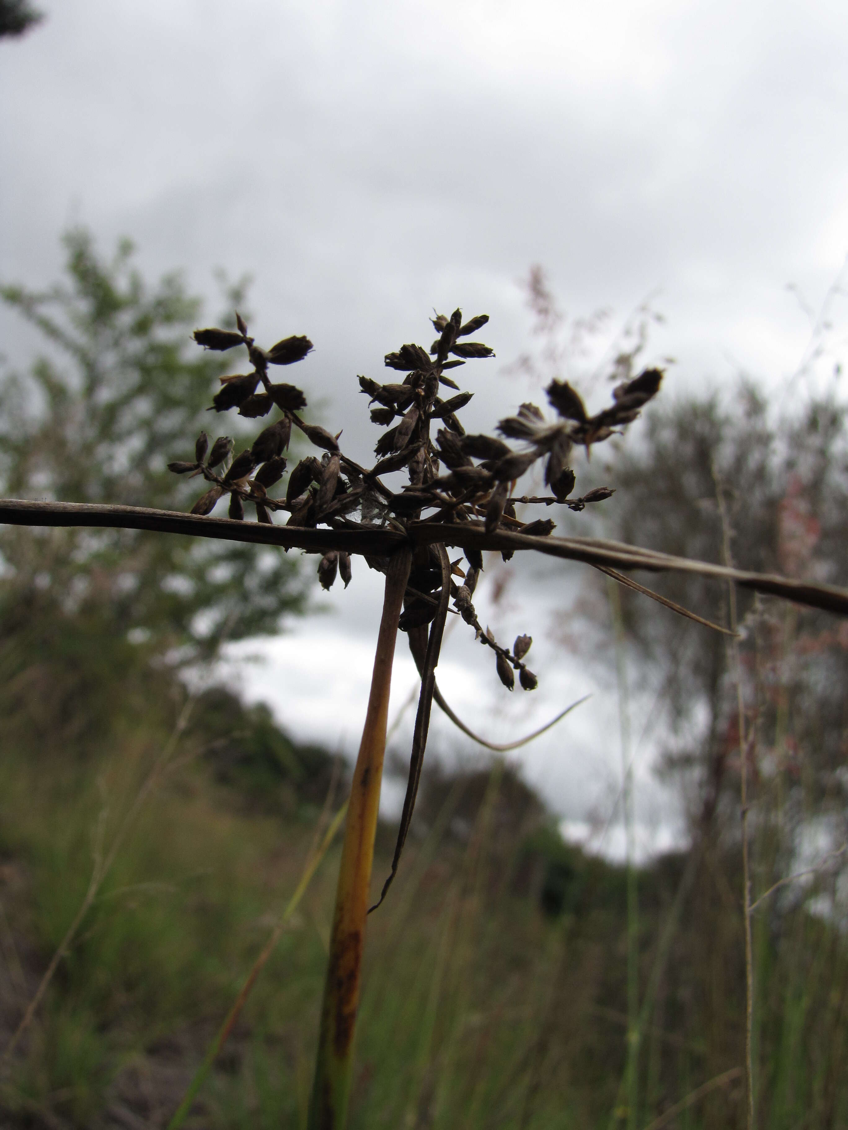
<instances>
[{"instance_id":1,"label":"branching cluster of dark brown dried spikelets atop the sedge stem","mask_svg":"<svg viewBox=\"0 0 848 1130\"><path fill-rule=\"evenodd\" d=\"M266 351L248 336L248 328L239 315L239 332L198 330L194 339L209 349L246 346L253 365L251 373L220 379L222 388L213 403L215 410L237 408L240 416L257 418L267 416L276 407L280 415L259 434L251 447L232 460L226 470L223 467L233 450L233 441L219 437L208 451L205 433L197 441L193 462L168 464L178 473L202 475L210 484L192 513L211 513L215 504L228 494L230 518L236 520L244 518L244 504L249 503L256 507L259 522L270 523L271 513L284 511L289 514L286 524L295 527L323 524L358 530L389 527L404 532L412 522L483 520L486 533L505 528L547 537L554 523L550 519L519 521L517 502L545 506L561 503L572 511L581 511L588 504L608 498L613 492L607 487L596 487L582 497L572 497L576 477L569 463L571 452L576 444L588 450L634 420L659 389L660 371L647 370L618 385L613 392L612 406L595 416L588 415L579 393L568 382L553 381L547 388L547 397L556 410L555 420L546 420L535 405L523 403L514 416L497 425L504 438L467 435L457 414L474 393L459 391L459 385L447 374L469 359L494 356L482 342L461 340L476 333L487 321L488 315L481 314L464 323L459 310L450 318L440 314L432 320L439 337L430 353L422 346L405 345L397 353L386 355L389 368L406 374L401 383L381 384L360 376L362 392L372 406L377 405L371 409L372 421L388 427L375 445L378 461L370 470L341 453L338 444L341 433L331 435L301 418L298 411L306 407L306 398L298 388L272 383L269 379L269 366L291 365L311 351L309 338L285 338ZM257 391L260 385L261 391ZM439 395L442 386L456 394L443 399ZM434 438L431 435L433 424L436 425ZM323 449L323 454L320 459L310 455L300 460L289 472L285 496L275 498L269 490L286 471L284 452L293 427L313 445ZM518 441L521 446L511 447L505 440ZM544 481L551 494L517 498L516 481L539 460L544 461ZM393 490L381 476L398 471L407 472L408 483L401 490ZM482 627L471 598L483 568L483 554L478 549L466 549L465 556L466 568L460 566L461 558L451 563L451 575L457 577L449 581L455 610L494 652L497 675L504 686L513 689L514 671L518 671L521 687L533 690L537 678L523 661L531 637L519 636L510 650L500 645L488 628ZM503 556L510 557L511 551L503 550ZM384 562L369 558L369 564L384 572ZM332 585L337 575L347 586L349 555L328 551L321 558L318 575L325 589ZM422 547L416 551L404 598L401 631L412 633L436 618L441 588L440 549L438 546Z\"/></svg>"}]
</instances>

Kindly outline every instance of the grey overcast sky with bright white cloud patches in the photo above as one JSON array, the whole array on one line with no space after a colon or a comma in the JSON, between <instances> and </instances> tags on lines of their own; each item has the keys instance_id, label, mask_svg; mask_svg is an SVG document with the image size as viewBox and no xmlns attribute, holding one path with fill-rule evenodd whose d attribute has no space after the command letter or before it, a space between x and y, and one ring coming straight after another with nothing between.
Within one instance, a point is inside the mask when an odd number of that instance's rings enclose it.
<instances>
[{"instance_id":1,"label":"grey overcast sky with bright white cloud patches","mask_svg":"<svg viewBox=\"0 0 848 1130\"><path fill-rule=\"evenodd\" d=\"M623 319L652 295L667 320L651 356L676 358L667 385L738 370L779 384L810 339L787 284L817 308L848 252L848 14L836 0L38 7L43 25L0 42L0 276L53 280L76 223L104 249L131 236L146 271L184 268L210 297L215 267L249 272L252 329L312 338L298 377L363 458L355 374L379 376L403 341L429 344L433 307L492 316L499 359L464 371L487 393L469 406L473 427L525 398L501 363L527 348L518 280L531 263L572 315ZM836 349L843 314L837 301ZM0 328L9 356L28 347L8 316ZM346 748L380 597L364 574L334 596L336 614L294 626L297 649L275 642L243 675L296 732ZM595 688L527 760L579 820L615 793L615 698L529 623L544 605L526 612L497 616L540 641L535 707L504 702L491 664L452 640L442 681L469 721L509 736ZM310 647L338 668L332 710L298 677ZM396 702L412 683L405 660ZM650 760L646 829L658 826Z\"/></svg>"}]
</instances>

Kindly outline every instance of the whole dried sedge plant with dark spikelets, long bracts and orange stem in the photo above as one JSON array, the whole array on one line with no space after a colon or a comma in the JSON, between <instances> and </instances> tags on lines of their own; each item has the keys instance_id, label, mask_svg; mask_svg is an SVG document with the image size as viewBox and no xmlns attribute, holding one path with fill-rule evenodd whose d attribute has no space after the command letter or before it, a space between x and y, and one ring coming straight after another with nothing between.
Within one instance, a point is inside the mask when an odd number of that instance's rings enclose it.
<instances>
[{"instance_id":1,"label":"whole dried sedge plant with dark spikelets, long bracts and orange stem","mask_svg":"<svg viewBox=\"0 0 848 1130\"><path fill-rule=\"evenodd\" d=\"M210 445L201 433L193 458L170 464L175 473L205 480L206 490L191 514L131 506L0 502L0 520L19 524L123 527L286 549L298 547L320 554L318 575L325 588L337 576L345 586L351 583L352 555L364 556L372 568L384 574L371 693L339 868L310 1107L312 1130L339 1128L346 1118L398 628L407 634L421 672L421 693L395 857L380 901L397 871L409 829L433 699L445 707L436 687L435 668L447 616L452 611L474 629L476 638L492 652L497 676L509 690L514 688L516 672L525 690L537 686L537 676L526 663L530 636L520 635L511 647L504 646L483 628L477 617L473 599L485 550L511 557L519 549L533 549L583 562L704 624L708 621L696 614L658 597L628 573L633 570L698 573L848 615L848 592L833 586L676 558L622 542L555 538L552 521L520 520L517 503L530 506L559 503L581 511L611 496L606 488L573 495L572 451L576 446L588 451L632 423L659 390L661 373L649 368L617 385L612 403L594 415L570 384L554 380L546 390L554 410L552 416L546 417L535 405L525 403L516 415L500 421L499 436L468 435L457 414L471 393L461 392L448 374L467 360L493 356L488 346L467 340L487 321L486 315L479 315L464 322L458 310L450 318L438 315L433 319L438 336L430 350L404 345L387 354L386 365L405 374L401 381L380 383L365 376L358 379L363 393L377 406L371 410L373 423L387 428L375 445L378 458L371 468L341 452L340 433L334 435L304 420L301 412L306 407L306 397L301 389L275 383L269 375L276 366L303 360L312 349L310 340L288 337L266 350L250 337L241 316L236 316L237 330L204 329L194 334L199 345L213 350L246 349L250 362L248 372L220 379L213 408L218 412L237 409L248 418L265 418L275 412L276 418L250 447L234 457L233 442L227 436L216 438ZM445 389L450 392L442 395ZM285 453L293 429L300 431L321 454L301 459L288 471ZM519 496L517 481L537 463L543 464L550 493ZM285 492L271 493L280 489L278 485L287 471ZM397 472L407 478L399 488L384 481ZM211 516L225 496L228 518ZM245 521L245 505L254 510L256 522ZM272 515L277 512L288 515L285 525L275 523ZM465 566L461 556L451 562L449 547L462 550Z\"/></svg>"}]
</instances>

